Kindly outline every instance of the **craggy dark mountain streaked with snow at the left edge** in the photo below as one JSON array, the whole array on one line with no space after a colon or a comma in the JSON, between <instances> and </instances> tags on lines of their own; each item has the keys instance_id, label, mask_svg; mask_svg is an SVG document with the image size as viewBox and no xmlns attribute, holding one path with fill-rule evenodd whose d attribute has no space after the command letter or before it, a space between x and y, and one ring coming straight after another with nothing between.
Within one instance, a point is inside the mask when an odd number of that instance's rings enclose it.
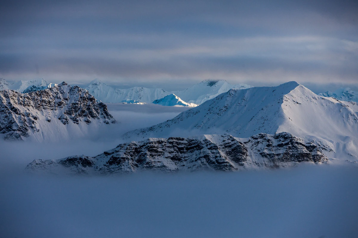
<instances>
[{"instance_id":1,"label":"craggy dark mountain streaked with snow at the left edge","mask_svg":"<svg viewBox=\"0 0 358 238\"><path fill-rule=\"evenodd\" d=\"M0 134L4 140L54 140L115 123L107 106L87 90L66 82L42 91L0 91Z\"/></svg>"}]
</instances>

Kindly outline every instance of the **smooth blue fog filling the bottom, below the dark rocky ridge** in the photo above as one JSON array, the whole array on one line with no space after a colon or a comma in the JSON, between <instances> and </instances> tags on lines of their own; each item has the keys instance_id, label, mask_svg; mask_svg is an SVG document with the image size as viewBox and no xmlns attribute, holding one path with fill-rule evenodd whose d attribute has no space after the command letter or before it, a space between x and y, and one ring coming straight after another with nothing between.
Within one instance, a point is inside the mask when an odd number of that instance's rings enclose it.
<instances>
[{"instance_id":1,"label":"smooth blue fog filling the bottom, below the dark rocky ridge","mask_svg":"<svg viewBox=\"0 0 358 238\"><path fill-rule=\"evenodd\" d=\"M0 237L358 234L354 168L0 179Z\"/></svg>"}]
</instances>

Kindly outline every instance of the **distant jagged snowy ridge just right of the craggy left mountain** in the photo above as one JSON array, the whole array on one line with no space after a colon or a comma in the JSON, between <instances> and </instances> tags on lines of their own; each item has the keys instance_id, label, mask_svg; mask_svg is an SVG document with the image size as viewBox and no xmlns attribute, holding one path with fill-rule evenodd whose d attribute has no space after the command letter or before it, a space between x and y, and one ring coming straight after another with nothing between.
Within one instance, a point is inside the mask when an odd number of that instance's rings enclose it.
<instances>
[{"instance_id":1,"label":"distant jagged snowy ridge just right of the craggy left mountain","mask_svg":"<svg viewBox=\"0 0 358 238\"><path fill-rule=\"evenodd\" d=\"M87 89L89 93L95 98L97 98L97 100L101 100L102 102L123 102L125 100L134 100L151 103L158 98L162 98L170 94L161 88L114 88L106 85L106 83L98 79L90 82L85 87L85 89Z\"/></svg>"}]
</instances>

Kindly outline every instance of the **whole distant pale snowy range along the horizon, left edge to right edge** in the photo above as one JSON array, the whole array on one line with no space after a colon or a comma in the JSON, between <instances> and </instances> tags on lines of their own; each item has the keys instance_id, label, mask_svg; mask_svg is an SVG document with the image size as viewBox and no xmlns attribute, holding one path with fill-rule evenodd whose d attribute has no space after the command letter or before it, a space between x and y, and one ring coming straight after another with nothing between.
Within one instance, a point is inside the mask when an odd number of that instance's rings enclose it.
<instances>
[{"instance_id":1,"label":"whole distant pale snowy range along the horizon, left edge to right edge","mask_svg":"<svg viewBox=\"0 0 358 238\"><path fill-rule=\"evenodd\" d=\"M21 80L18 82L8 82L0 78L0 91L12 89L16 92L28 93L38 90L44 90L56 86L55 83L49 83L42 78L32 80ZM155 100L164 98L167 95L174 94L186 103L201 104L210 100L229 89L245 89L252 87L246 84L231 85L225 80L204 80L182 91L165 91L162 88L144 88L132 87L120 89L106 85L101 80L95 79L91 81L85 89L97 100L102 102L127 102L141 104L152 103ZM334 92L326 91L318 93L319 96L334 97L340 101L358 102L358 93L350 88L340 88ZM132 101L132 102L130 102Z\"/></svg>"}]
</instances>

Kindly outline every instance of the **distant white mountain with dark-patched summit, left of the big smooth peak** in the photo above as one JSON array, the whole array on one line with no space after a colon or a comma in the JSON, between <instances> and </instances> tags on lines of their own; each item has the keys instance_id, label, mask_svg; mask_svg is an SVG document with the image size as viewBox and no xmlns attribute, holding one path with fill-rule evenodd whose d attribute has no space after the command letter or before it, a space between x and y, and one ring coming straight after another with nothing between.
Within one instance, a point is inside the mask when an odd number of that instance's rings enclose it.
<instances>
[{"instance_id":1,"label":"distant white mountain with dark-patched summit, left of the big smooth peak","mask_svg":"<svg viewBox=\"0 0 358 238\"><path fill-rule=\"evenodd\" d=\"M183 91L173 92L185 102L202 104L231 88L244 89L252 86L246 84L232 85L225 80L204 80Z\"/></svg>"}]
</instances>

